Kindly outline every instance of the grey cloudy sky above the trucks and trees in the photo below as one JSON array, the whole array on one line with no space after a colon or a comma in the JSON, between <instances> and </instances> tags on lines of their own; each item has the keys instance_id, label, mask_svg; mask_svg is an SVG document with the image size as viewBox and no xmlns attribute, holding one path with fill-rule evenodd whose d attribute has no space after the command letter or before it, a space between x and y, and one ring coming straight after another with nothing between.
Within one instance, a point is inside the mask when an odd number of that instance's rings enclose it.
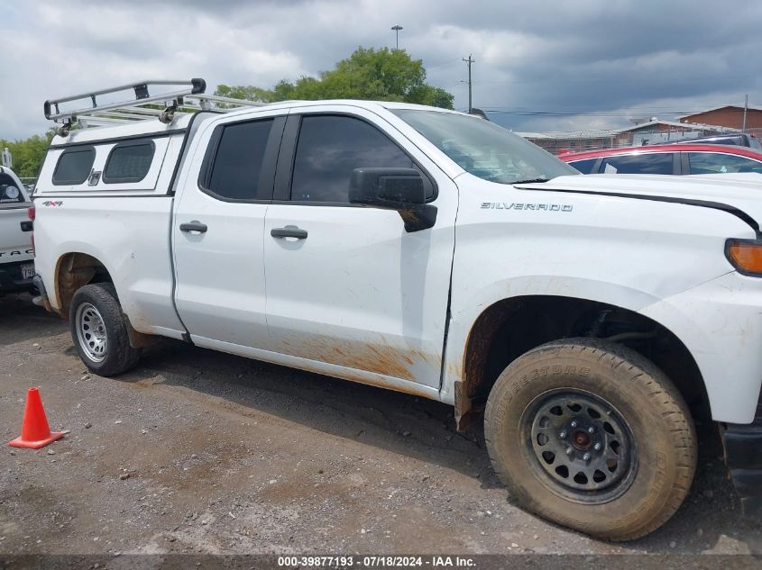
<instances>
[{"instance_id":1,"label":"grey cloudy sky above the trucks and trees","mask_svg":"<svg viewBox=\"0 0 762 570\"><path fill-rule=\"evenodd\" d=\"M49 126L45 99L147 78L270 87L357 46L399 47L428 81L518 131L573 131L762 106L759 0L0 0L0 139ZM213 90L210 89L211 92Z\"/></svg>"}]
</instances>

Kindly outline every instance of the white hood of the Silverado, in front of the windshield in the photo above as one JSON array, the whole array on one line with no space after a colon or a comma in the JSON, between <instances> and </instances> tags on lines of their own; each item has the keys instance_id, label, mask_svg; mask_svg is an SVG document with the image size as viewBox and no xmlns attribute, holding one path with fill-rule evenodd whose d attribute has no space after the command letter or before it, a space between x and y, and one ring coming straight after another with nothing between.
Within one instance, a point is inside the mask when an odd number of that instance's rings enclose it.
<instances>
[{"instance_id":1,"label":"white hood of the Silverado, in front of the windshield","mask_svg":"<svg viewBox=\"0 0 762 570\"><path fill-rule=\"evenodd\" d=\"M762 222L762 174L666 176L591 174L559 176L519 189L632 197L715 208L738 216L755 231Z\"/></svg>"}]
</instances>

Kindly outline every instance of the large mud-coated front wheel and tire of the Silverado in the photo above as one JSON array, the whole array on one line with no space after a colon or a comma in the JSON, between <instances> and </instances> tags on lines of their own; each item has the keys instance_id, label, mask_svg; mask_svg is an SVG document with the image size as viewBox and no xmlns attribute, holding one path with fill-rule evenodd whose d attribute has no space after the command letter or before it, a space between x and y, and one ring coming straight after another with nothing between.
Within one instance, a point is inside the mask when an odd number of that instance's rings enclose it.
<instances>
[{"instance_id":1,"label":"large mud-coated front wheel and tire of the Silverado","mask_svg":"<svg viewBox=\"0 0 762 570\"><path fill-rule=\"evenodd\" d=\"M631 540L677 511L693 481L693 421L666 375L620 345L563 339L500 375L484 418L492 464L529 511Z\"/></svg>"}]
</instances>

